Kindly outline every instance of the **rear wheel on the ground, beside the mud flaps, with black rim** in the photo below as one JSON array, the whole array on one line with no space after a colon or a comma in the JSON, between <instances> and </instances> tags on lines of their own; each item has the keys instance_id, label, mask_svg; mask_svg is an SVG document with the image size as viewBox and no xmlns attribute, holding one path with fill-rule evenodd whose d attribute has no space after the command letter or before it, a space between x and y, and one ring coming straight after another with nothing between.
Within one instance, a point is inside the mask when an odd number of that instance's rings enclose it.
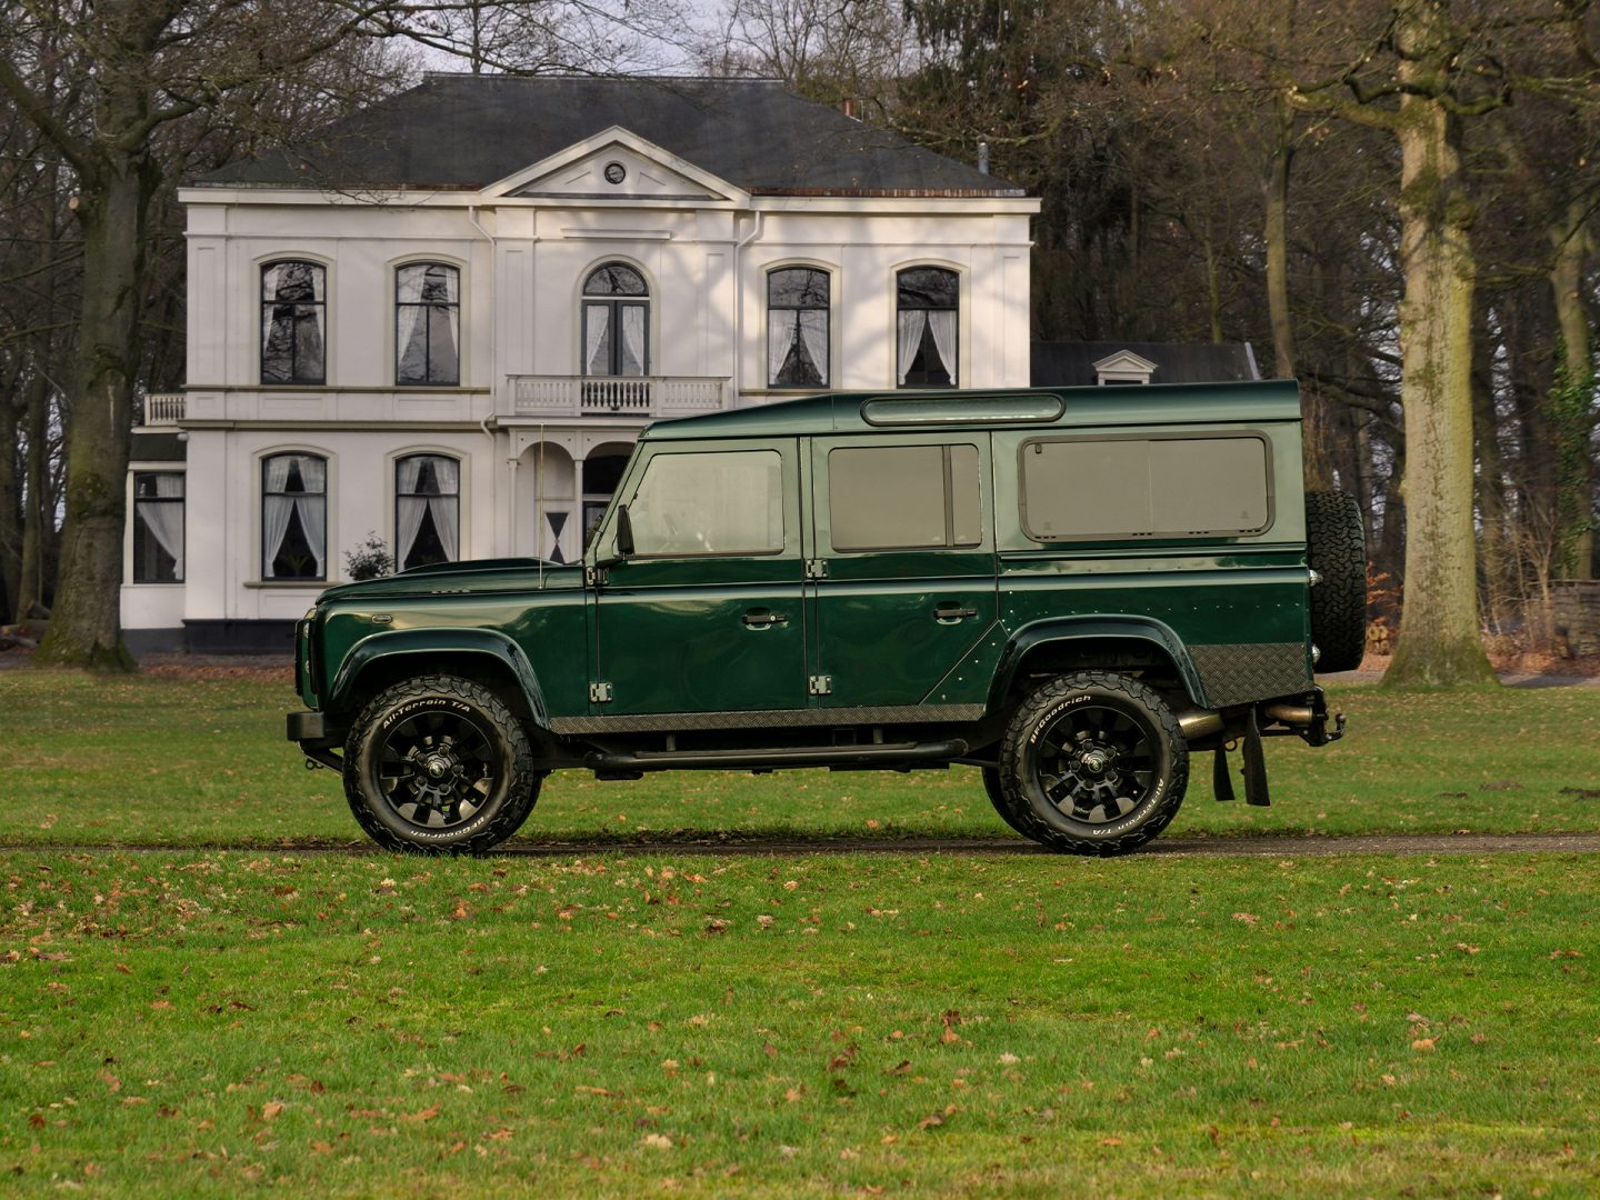
<instances>
[{"instance_id":1,"label":"rear wheel on the ground, beside the mud flaps, with black rim","mask_svg":"<svg viewBox=\"0 0 1600 1200\"><path fill-rule=\"evenodd\" d=\"M1091 670L1054 678L1018 704L1000 744L998 776L1024 837L1072 854L1126 854L1178 814L1189 746L1155 691ZM1118 813L1109 803L1072 803L1085 795L1110 798ZM1122 810L1123 802L1130 808Z\"/></svg>"}]
</instances>

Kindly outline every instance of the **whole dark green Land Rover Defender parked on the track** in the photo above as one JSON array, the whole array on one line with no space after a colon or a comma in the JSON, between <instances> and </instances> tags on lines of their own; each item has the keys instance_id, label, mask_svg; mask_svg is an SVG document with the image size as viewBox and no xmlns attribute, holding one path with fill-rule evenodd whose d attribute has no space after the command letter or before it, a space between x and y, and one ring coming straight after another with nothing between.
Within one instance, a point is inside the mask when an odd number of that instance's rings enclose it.
<instances>
[{"instance_id":1,"label":"whole dark green Land Rover Defender parked on the track","mask_svg":"<svg viewBox=\"0 0 1600 1200\"><path fill-rule=\"evenodd\" d=\"M490 850L549 771L982 771L1117 854L1194 750L1267 803L1365 643L1362 520L1304 493L1291 382L819 395L654 424L582 563L331 587L288 736L384 846Z\"/></svg>"}]
</instances>

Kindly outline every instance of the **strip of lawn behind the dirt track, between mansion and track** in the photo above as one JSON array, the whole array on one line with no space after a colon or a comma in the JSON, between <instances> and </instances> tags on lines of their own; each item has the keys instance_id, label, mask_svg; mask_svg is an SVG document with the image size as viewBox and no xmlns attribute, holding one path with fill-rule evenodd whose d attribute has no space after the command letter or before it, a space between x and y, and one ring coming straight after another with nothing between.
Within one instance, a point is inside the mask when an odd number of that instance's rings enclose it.
<instances>
[{"instance_id":1,"label":"strip of lawn behind the dirt track, between mansion and track","mask_svg":"<svg viewBox=\"0 0 1600 1200\"><path fill-rule=\"evenodd\" d=\"M1600 829L1600 690L1333 691L1349 736L1267 742L1272 808L1211 798L1210 757L1166 837ZM0 674L0 845L362 837L339 781L283 739L298 701L262 682ZM522 837L1003 837L968 768L915 774L552 776Z\"/></svg>"}]
</instances>

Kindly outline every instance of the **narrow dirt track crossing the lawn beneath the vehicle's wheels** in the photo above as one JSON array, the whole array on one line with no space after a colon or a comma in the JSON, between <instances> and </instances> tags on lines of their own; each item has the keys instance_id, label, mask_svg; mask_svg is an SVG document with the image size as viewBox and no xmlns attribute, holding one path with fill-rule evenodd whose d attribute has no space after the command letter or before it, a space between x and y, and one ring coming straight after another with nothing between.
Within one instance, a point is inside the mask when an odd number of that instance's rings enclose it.
<instances>
[{"instance_id":1,"label":"narrow dirt track crossing the lawn beneath the vehicle's wheels","mask_svg":"<svg viewBox=\"0 0 1600 1200\"><path fill-rule=\"evenodd\" d=\"M45 843L0 846L0 854L384 854L370 842L240 842L240 843L147 843L147 845L66 845ZM672 856L758 858L766 854L1048 854L1032 842L1014 837L994 838L720 838L664 835L630 842L546 842L499 846L493 858L597 858ZM1195 858L1334 858L1338 854L1600 854L1600 834L1368 834L1309 837L1208 837L1157 838L1139 854Z\"/></svg>"}]
</instances>

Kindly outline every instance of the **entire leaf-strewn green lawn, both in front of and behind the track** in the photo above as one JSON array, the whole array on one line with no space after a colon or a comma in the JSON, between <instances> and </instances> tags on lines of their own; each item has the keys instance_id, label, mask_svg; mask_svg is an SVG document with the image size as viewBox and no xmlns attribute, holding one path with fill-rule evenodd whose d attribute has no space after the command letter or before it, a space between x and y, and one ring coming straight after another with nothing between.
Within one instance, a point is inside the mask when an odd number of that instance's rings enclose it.
<instances>
[{"instance_id":1,"label":"entire leaf-strewn green lawn, both in front of and behind the track","mask_svg":"<svg viewBox=\"0 0 1600 1200\"><path fill-rule=\"evenodd\" d=\"M1168 837L1597 829L1600 691L1334 702ZM1600 856L670 848L1005 835L971 771L568 773L523 835L581 856L282 854L358 837L291 704L0 674L0 1192L1600 1190Z\"/></svg>"}]
</instances>

